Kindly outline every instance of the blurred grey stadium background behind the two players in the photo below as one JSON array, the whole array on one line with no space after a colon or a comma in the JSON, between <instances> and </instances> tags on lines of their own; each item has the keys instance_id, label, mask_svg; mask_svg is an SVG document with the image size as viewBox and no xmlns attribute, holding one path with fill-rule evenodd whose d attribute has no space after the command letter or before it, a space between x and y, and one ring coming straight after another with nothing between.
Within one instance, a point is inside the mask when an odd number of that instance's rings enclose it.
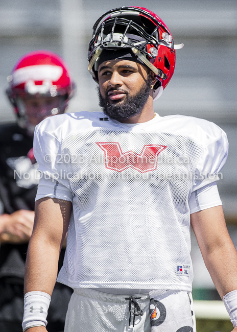
<instances>
[{"instance_id":1,"label":"blurred grey stadium background behind the two players","mask_svg":"<svg viewBox=\"0 0 237 332\"><path fill-rule=\"evenodd\" d=\"M96 83L87 72L87 45L94 21L121 6L149 8L168 25L175 43L184 43L177 51L174 77L155 111L202 117L227 132L229 158L219 191L237 246L236 0L0 0L0 122L15 120L5 96L7 76L19 57L37 49L54 51L69 64L78 91L68 111L97 111ZM198 332L230 331L232 325L192 237Z\"/></svg>"}]
</instances>

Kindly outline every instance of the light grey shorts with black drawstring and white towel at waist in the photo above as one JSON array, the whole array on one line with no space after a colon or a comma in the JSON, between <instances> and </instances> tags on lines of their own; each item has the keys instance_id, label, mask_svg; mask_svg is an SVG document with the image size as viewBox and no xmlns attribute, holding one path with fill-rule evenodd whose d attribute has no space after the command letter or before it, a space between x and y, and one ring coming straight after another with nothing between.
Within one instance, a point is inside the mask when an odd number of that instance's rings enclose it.
<instances>
[{"instance_id":1,"label":"light grey shorts with black drawstring and white towel at waist","mask_svg":"<svg viewBox=\"0 0 237 332\"><path fill-rule=\"evenodd\" d=\"M64 332L196 332L191 293L154 295L75 289Z\"/></svg>"}]
</instances>

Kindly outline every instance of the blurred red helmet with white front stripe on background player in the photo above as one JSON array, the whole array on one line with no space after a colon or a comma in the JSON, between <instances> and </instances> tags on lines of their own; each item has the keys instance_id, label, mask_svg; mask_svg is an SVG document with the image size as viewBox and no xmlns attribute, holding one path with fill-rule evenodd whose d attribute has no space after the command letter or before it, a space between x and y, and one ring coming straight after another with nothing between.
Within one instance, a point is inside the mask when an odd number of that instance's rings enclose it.
<instances>
[{"instance_id":1,"label":"blurred red helmet with white front stripe on background player","mask_svg":"<svg viewBox=\"0 0 237 332\"><path fill-rule=\"evenodd\" d=\"M61 96L60 107L52 110L51 115L54 115L65 111L75 93L75 83L66 63L50 51L34 51L22 56L7 80L10 87L6 93L21 123L26 120L23 99Z\"/></svg>"}]
</instances>

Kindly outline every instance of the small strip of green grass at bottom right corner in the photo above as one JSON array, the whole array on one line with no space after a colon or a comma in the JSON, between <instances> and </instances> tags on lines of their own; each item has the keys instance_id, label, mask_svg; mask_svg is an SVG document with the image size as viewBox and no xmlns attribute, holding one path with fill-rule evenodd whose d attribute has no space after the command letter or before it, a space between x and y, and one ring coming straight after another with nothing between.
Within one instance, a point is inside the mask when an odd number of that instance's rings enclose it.
<instances>
[{"instance_id":1,"label":"small strip of green grass at bottom right corner","mask_svg":"<svg viewBox=\"0 0 237 332\"><path fill-rule=\"evenodd\" d=\"M230 332L233 329L231 321L197 319L197 332Z\"/></svg>"}]
</instances>

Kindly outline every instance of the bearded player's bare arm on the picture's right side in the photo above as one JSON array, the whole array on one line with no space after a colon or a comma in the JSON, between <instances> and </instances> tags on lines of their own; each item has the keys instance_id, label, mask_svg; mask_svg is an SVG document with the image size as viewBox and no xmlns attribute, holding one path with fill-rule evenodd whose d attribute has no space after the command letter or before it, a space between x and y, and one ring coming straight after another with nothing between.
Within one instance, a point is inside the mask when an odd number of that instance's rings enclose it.
<instances>
[{"instance_id":1,"label":"bearded player's bare arm on the picture's right side","mask_svg":"<svg viewBox=\"0 0 237 332\"><path fill-rule=\"evenodd\" d=\"M205 265L223 298L237 290L237 252L226 227L222 206L193 213L191 225ZM237 332L237 327L233 331Z\"/></svg>"}]
</instances>

